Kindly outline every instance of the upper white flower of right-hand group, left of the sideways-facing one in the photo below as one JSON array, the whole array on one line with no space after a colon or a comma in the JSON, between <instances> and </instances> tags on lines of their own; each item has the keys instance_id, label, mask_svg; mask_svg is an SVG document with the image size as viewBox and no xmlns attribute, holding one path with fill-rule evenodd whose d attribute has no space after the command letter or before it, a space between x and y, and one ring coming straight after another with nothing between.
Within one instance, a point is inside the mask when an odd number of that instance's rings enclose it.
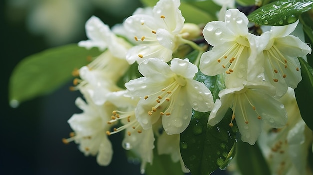
<instances>
[{"instance_id":1,"label":"upper white flower of right-hand group, left of the sideways-facing one","mask_svg":"<svg viewBox=\"0 0 313 175\"><path fill-rule=\"evenodd\" d=\"M248 61L249 57L255 56L251 50L254 45L254 35L249 33L248 19L238 9L229 9L225 14L225 22L209 22L204 30L205 40L214 48L203 53L200 60L200 70L206 75L214 76L226 73L226 87L240 87L249 76L258 74L253 66L254 62ZM255 47L252 47L255 48Z\"/></svg>"}]
</instances>

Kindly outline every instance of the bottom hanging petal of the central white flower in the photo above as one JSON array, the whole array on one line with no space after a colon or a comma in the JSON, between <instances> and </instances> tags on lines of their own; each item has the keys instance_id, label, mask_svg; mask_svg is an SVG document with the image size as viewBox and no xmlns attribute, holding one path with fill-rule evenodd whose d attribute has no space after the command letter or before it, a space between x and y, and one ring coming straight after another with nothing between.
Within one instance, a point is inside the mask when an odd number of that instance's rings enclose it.
<instances>
[{"instance_id":1,"label":"bottom hanging petal of the central white flower","mask_svg":"<svg viewBox=\"0 0 313 175\"><path fill-rule=\"evenodd\" d=\"M165 132L169 135L182 133L189 125L192 115L192 107L186 101L183 89L180 92L175 92L171 100L172 108L169 111L170 115L162 116L162 124Z\"/></svg>"}]
</instances>

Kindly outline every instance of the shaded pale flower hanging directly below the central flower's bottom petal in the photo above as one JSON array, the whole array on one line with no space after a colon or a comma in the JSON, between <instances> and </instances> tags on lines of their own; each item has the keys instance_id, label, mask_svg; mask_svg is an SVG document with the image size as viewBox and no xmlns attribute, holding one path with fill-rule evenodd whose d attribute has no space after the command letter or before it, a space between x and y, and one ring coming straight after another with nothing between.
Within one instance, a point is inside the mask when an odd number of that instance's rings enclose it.
<instances>
[{"instance_id":1,"label":"shaded pale flower hanging directly below the central flower's bottom petal","mask_svg":"<svg viewBox=\"0 0 313 175\"><path fill-rule=\"evenodd\" d=\"M185 167L180 154L180 135L172 134L168 135L163 132L157 138L157 152L158 154L169 154L173 162L180 162L181 169L184 173L190 172L189 169Z\"/></svg>"}]
</instances>

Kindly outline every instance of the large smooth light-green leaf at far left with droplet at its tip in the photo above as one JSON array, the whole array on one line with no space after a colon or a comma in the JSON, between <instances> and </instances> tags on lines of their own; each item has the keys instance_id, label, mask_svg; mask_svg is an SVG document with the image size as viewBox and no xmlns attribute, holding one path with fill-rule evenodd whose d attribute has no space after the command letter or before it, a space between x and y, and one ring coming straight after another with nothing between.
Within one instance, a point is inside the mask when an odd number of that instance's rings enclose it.
<instances>
[{"instance_id":1,"label":"large smooth light-green leaf at far left with droplet at its tip","mask_svg":"<svg viewBox=\"0 0 313 175\"><path fill-rule=\"evenodd\" d=\"M87 50L77 44L47 49L24 58L13 70L9 82L12 107L47 94L72 78L71 72L89 63L87 57L98 56L97 48Z\"/></svg>"}]
</instances>

